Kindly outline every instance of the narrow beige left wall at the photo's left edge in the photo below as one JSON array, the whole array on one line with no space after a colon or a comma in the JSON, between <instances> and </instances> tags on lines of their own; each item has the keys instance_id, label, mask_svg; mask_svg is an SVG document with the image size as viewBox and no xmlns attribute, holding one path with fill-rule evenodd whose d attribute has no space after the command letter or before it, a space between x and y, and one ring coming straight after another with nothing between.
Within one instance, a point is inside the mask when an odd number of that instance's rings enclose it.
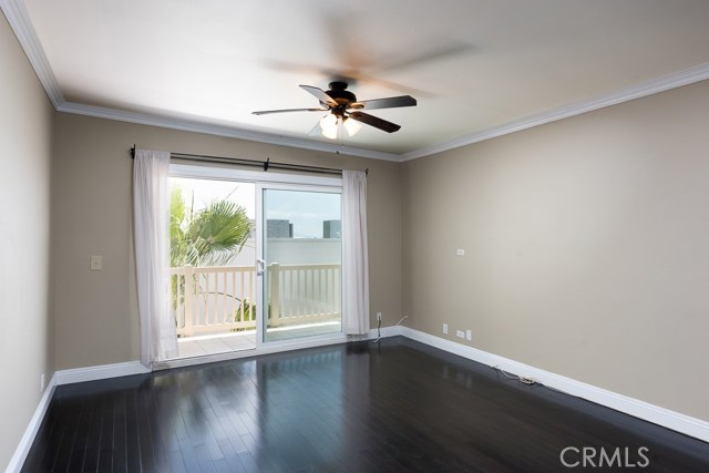
<instances>
[{"instance_id":1,"label":"narrow beige left wall at the photo's left edge","mask_svg":"<svg viewBox=\"0 0 709 473\"><path fill-rule=\"evenodd\" d=\"M0 14L0 470L54 372L50 175L54 112Z\"/></svg>"}]
</instances>

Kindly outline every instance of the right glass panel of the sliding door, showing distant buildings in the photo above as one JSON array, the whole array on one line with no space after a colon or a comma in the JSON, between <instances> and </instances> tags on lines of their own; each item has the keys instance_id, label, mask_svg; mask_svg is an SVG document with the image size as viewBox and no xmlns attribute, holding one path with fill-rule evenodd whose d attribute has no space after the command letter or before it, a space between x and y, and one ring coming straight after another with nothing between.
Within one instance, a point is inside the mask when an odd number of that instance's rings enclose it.
<instances>
[{"instance_id":1,"label":"right glass panel of the sliding door, showing distant buildings","mask_svg":"<svg viewBox=\"0 0 709 473\"><path fill-rule=\"evenodd\" d=\"M261 185L264 342L342 331L339 189Z\"/></svg>"}]
</instances>

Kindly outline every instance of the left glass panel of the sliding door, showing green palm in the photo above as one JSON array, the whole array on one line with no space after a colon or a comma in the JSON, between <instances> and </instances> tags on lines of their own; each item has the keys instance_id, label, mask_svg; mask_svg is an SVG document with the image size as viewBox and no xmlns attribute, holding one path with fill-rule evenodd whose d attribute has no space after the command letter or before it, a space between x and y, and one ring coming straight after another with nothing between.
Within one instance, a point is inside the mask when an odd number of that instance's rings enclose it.
<instances>
[{"instance_id":1,"label":"left glass panel of the sliding door, showing green palm","mask_svg":"<svg viewBox=\"0 0 709 473\"><path fill-rule=\"evenodd\" d=\"M178 358L256 348L254 183L171 177Z\"/></svg>"}]
</instances>

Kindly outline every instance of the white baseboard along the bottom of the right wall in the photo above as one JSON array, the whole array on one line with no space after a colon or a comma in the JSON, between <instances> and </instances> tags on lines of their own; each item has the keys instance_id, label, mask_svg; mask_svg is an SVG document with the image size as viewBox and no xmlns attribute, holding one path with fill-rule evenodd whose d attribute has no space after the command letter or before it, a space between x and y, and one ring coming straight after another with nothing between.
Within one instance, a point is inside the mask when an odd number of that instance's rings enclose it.
<instances>
[{"instance_id":1,"label":"white baseboard along the bottom of the right wall","mask_svg":"<svg viewBox=\"0 0 709 473\"><path fill-rule=\"evenodd\" d=\"M467 358L489 367L500 367L506 372L521 377L531 378L549 388L558 389L568 394L586 399L600 405L605 405L616 411L624 412L638 419L671 429L695 439L709 442L709 422L691 418L649 402L618 394L585 382L555 374L528 364L520 363L504 357L499 357L476 348L466 347L454 341L445 340L429 333L403 327L401 335L415 341L429 345Z\"/></svg>"}]
</instances>

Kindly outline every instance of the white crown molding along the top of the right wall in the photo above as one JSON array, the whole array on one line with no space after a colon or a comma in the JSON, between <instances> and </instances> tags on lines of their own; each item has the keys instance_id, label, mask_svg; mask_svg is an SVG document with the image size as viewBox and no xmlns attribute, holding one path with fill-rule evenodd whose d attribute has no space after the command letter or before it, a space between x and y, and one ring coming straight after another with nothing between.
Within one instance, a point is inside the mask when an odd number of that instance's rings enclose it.
<instances>
[{"instance_id":1,"label":"white crown molding along the top of the right wall","mask_svg":"<svg viewBox=\"0 0 709 473\"><path fill-rule=\"evenodd\" d=\"M651 79L649 81L639 82L637 84L619 89L609 93L597 95L592 99L582 100L556 109L548 110L538 114L530 115L524 119L515 120L483 130L477 133L461 136L433 146L427 146L414 150L400 155L400 162L411 161L423 156L429 156L444 151L454 150L469 144L479 143L510 133L520 132L522 130L532 128L534 126L544 125L546 123L556 122L558 120L568 119L580 115L583 113L593 112L595 110L605 109L607 106L617 105L635 99L665 92L671 89L681 88L684 85L693 84L696 82L709 79L709 63L700 64L682 71L674 72L661 78Z\"/></svg>"}]
</instances>

